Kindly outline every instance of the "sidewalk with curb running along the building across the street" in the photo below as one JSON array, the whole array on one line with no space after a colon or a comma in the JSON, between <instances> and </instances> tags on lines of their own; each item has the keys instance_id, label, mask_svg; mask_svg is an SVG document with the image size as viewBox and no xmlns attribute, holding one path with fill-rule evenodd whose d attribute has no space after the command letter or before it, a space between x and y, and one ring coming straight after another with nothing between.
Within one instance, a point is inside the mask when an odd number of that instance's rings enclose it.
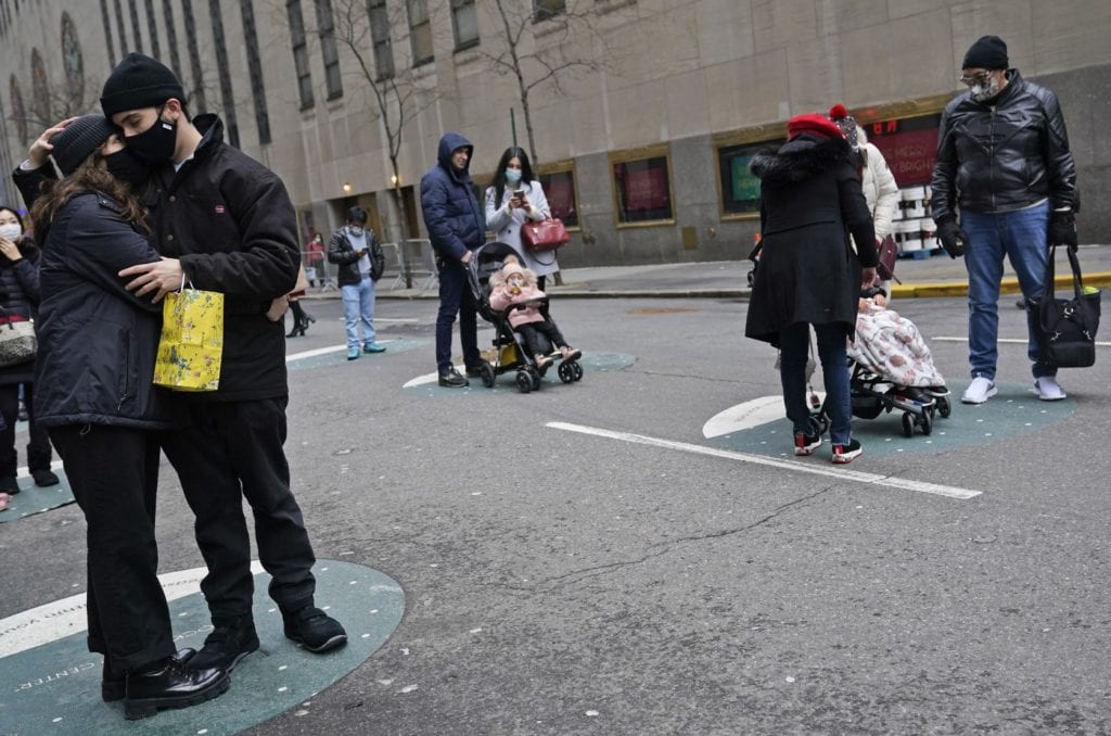
<instances>
[{"instance_id":1,"label":"sidewalk with curb running along the building across the street","mask_svg":"<svg viewBox=\"0 0 1111 736\"><path fill-rule=\"evenodd\" d=\"M1111 286L1111 245L1081 246L1080 265L1084 270L1084 286ZM751 268L747 260L700 261L689 263L663 263L653 266L609 266L595 268L563 269L563 286L548 282L548 291L553 296L577 298L714 298L745 299L749 288L745 275ZM895 276L902 285L892 285L892 296L899 299L912 297L954 297L967 294L968 275L964 263L937 251L922 259L900 258ZM379 282L379 299L436 299L437 289L421 291L407 289L402 284L390 289L392 279ZM1068 261L1058 255L1058 289L1068 289L1072 284ZM1019 285L1009 265L1004 265L1003 294L1018 294ZM310 292L310 298L339 298L338 290L324 294Z\"/></svg>"}]
</instances>

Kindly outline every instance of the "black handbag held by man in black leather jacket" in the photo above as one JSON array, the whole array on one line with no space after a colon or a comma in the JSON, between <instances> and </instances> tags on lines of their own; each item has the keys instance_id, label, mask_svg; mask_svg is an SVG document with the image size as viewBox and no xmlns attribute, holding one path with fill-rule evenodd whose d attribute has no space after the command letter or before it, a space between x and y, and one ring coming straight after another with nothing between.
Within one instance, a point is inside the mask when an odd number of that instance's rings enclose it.
<instances>
[{"instance_id":1,"label":"black handbag held by man in black leather jacket","mask_svg":"<svg viewBox=\"0 0 1111 736\"><path fill-rule=\"evenodd\" d=\"M1067 249L1068 250L1068 249ZM1053 292L1057 246L1049 251L1045 291L1030 300L1031 324L1038 335L1041 362L1055 368L1088 368L1095 364L1095 330L1100 326L1100 290L1084 287L1077 253L1069 250L1072 298Z\"/></svg>"}]
</instances>

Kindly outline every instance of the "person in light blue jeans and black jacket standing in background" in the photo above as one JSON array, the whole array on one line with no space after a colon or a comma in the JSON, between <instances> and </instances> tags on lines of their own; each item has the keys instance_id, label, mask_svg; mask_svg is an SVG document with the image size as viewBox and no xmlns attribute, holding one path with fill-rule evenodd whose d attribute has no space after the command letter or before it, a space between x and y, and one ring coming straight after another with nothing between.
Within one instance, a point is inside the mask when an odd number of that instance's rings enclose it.
<instances>
[{"instance_id":1,"label":"person in light blue jeans and black jacket standing in background","mask_svg":"<svg viewBox=\"0 0 1111 736\"><path fill-rule=\"evenodd\" d=\"M328 239L328 262L339 266L348 360L356 360L363 352L386 352L374 341L374 282L382 278L386 259L374 231L367 227L367 210L361 207L348 210L347 225Z\"/></svg>"}]
</instances>

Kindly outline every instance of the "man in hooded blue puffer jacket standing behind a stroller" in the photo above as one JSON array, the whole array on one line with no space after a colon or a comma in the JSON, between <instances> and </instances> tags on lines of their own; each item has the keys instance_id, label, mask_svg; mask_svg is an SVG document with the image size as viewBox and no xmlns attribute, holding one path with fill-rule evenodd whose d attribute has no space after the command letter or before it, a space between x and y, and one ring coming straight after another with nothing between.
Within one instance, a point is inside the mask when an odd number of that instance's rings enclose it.
<instances>
[{"instance_id":1,"label":"man in hooded blue puffer jacket standing behind a stroller","mask_svg":"<svg viewBox=\"0 0 1111 736\"><path fill-rule=\"evenodd\" d=\"M462 388L470 382L451 365L451 326L459 315L459 339L468 376L478 376L478 311L467 288L467 262L486 241L486 215L471 183L474 147L459 133L440 139L437 165L420 180L424 227L440 270L440 312L436 318L436 367L440 386Z\"/></svg>"}]
</instances>

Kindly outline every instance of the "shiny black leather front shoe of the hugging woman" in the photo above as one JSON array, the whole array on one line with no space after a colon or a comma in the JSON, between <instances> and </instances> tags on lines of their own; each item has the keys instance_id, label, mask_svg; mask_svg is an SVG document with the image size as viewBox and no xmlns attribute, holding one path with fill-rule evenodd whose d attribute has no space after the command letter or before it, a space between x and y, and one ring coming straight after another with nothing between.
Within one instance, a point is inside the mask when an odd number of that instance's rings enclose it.
<instances>
[{"instance_id":1,"label":"shiny black leather front shoe of the hugging woman","mask_svg":"<svg viewBox=\"0 0 1111 736\"><path fill-rule=\"evenodd\" d=\"M123 717L149 718L160 708L187 708L218 697L231 679L224 669L193 669L167 657L152 668L128 673Z\"/></svg>"}]
</instances>

